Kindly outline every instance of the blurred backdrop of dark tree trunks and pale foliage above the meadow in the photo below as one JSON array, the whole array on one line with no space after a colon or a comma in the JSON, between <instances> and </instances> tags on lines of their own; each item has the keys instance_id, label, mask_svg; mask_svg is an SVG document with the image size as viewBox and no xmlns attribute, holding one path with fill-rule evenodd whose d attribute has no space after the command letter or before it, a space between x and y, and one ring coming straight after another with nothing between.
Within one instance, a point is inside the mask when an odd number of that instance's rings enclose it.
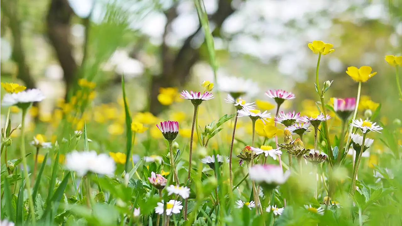
<instances>
[{"instance_id":1,"label":"blurred backdrop of dark tree trunks and pale foliage above the meadow","mask_svg":"<svg viewBox=\"0 0 402 226\"><path fill-rule=\"evenodd\" d=\"M268 100L265 90L283 88L297 95L294 109L303 100L317 101L318 56L307 44L322 40L335 49L320 66L320 81L334 80L327 99L355 97L357 83L345 71L368 65L378 74L363 84L362 95L382 104L381 116L397 112L394 68L384 56L401 53L401 1L204 3L217 76L253 80L255 98ZM0 81L45 92L39 119L55 117L61 102L76 105L80 87L92 90L88 95L97 105L119 102L123 75L132 110L154 115L171 106L158 100L161 87L202 91L200 82L213 81L192 0L0 0Z\"/></svg>"}]
</instances>

